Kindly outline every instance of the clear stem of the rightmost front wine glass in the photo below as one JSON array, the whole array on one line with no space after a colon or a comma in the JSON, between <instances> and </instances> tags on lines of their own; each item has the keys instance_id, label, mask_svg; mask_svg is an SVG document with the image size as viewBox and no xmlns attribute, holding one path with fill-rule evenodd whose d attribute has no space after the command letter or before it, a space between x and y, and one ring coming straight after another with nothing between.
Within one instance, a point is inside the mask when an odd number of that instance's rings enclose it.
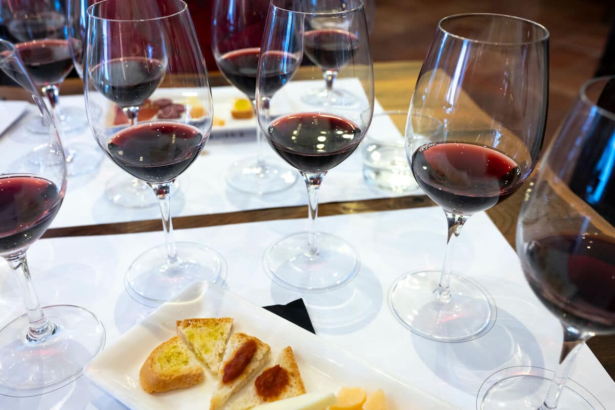
<instances>
[{"instance_id":1,"label":"clear stem of the rightmost front wine glass","mask_svg":"<svg viewBox=\"0 0 615 410\"><path fill-rule=\"evenodd\" d=\"M568 374L572 368L574 358L581 349L581 346L593 336L593 333L581 332L572 326L563 325L564 343L561 347L560 364L555 371L555 377L549 387L547 398L542 403L540 410L555 410L560 401L561 392L565 387Z\"/></svg>"}]
</instances>

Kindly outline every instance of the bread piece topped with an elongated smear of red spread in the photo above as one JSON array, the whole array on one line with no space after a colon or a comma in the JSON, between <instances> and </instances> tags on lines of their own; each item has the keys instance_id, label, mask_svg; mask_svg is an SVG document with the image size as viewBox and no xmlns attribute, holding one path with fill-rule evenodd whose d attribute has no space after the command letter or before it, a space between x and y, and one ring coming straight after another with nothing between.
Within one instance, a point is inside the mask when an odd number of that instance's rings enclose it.
<instances>
[{"instance_id":1,"label":"bread piece topped with an elongated smear of red spread","mask_svg":"<svg viewBox=\"0 0 615 410\"><path fill-rule=\"evenodd\" d=\"M218 390L212 395L209 410L221 409L237 390L244 387L252 376L269 363L270 357L269 345L256 337L245 333L232 335L218 372L220 376ZM232 377L231 374L235 374L236 377Z\"/></svg>"}]
</instances>

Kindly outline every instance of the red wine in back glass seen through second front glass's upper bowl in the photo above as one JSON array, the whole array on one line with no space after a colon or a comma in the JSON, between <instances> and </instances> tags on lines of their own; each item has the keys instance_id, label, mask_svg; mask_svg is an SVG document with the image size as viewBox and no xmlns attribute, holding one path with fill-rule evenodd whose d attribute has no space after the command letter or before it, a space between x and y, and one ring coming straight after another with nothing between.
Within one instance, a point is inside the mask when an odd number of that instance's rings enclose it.
<instances>
[{"instance_id":1,"label":"red wine in back glass seen through second front glass's upper bowl","mask_svg":"<svg viewBox=\"0 0 615 410\"><path fill-rule=\"evenodd\" d=\"M157 89L166 65L156 58L123 57L90 70L96 89L119 107L138 107Z\"/></svg>"}]
</instances>

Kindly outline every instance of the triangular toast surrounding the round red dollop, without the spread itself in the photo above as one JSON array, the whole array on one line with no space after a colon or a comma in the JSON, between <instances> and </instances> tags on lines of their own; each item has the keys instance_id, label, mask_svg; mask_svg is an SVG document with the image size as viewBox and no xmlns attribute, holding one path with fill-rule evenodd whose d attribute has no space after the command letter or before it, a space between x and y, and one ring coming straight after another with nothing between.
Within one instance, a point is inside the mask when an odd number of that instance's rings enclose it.
<instances>
[{"instance_id":1,"label":"triangular toast surrounding the round red dollop, without the spread itself","mask_svg":"<svg viewBox=\"0 0 615 410\"><path fill-rule=\"evenodd\" d=\"M256 388L256 384L259 382L257 380L263 374L275 368L276 366L280 366L286 372L287 384L282 388L280 392L277 392L274 395L268 395L263 397L258 394L258 389ZM297 362L295 360L295 355L293 354L293 349L290 346L284 348L280 355L277 358L276 363L273 364L270 368L265 369L261 372L261 375L256 377L250 388L248 388L245 395L241 398L237 399L232 406L231 410L247 410L251 409L254 406L258 406L259 404L271 403L272 401L278 401L289 397L294 397L298 395L303 395L306 392L306 388L303 385L303 379L301 379L301 373L299 371L299 366L297 366Z\"/></svg>"}]
</instances>

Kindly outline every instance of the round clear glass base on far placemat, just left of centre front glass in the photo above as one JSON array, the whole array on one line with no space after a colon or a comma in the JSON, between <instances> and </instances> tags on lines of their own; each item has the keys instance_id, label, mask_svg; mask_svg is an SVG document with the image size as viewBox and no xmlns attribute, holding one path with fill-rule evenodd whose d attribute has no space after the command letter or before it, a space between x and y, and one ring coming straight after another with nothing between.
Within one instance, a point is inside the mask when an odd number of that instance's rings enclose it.
<instances>
[{"instance_id":1,"label":"round clear glass base on far placemat, just left of centre front glass","mask_svg":"<svg viewBox=\"0 0 615 410\"><path fill-rule=\"evenodd\" d=\"M297 177L297 172L289 167L255 157L233 163L226 173L226 182L238 191L264 195L292 187Z\"/></svg>"}]
</instances>

